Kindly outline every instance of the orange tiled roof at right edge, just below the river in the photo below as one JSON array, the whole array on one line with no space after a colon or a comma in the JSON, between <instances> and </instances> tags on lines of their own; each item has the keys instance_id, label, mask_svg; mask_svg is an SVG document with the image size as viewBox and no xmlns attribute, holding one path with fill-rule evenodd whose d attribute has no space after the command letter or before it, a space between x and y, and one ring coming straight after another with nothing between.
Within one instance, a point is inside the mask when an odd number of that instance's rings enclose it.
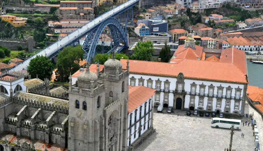
<instances>
[{"instance_id":1,"label":"orange tiled roof at right edge, just below the river","mask_svg":"<svg viewBox=\"0 0 263 151\"><path fill-rule=\"evenodd\" d=\"M257 101L263 104L263 89L252 85L247 85L247 96L252 101Z\"/></svg>"}]
</instances>

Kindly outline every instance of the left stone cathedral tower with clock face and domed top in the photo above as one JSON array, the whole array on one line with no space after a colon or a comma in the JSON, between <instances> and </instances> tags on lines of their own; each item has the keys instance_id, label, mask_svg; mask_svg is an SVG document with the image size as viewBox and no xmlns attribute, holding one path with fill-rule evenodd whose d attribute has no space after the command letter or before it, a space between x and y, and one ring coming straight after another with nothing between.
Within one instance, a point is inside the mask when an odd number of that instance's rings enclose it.
<instances>
[{"instance_id":1,"label":"left stone cathedral tower with clock face and domed top","mask_svg":"<svg viewBox=\"0 0 263 151\"><path fill-rule=\"evenodd\" d=\"M105 87L97 75L86 71L78 76L77 87L69 77L68 150L104 150Z\"/></svg>"}]
</instances>

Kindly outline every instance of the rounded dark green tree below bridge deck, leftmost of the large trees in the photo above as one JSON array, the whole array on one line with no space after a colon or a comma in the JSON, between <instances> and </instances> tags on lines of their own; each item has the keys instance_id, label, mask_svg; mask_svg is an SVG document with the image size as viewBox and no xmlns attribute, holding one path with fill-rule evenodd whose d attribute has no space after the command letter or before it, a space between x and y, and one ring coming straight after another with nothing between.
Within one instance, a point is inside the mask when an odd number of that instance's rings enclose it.
<instances>
[{"instance_id":1,"label":"rounded dark green tree below bridge deck, leftmost of the large trees","mask_svg":"<svg viewBox=\"0 0 263 151\"><path fill-rule=\"evenodd\" d=\"M27 72L31 75L31 78L38 78L44 80L44 78L51 78L53 73L53 64L48 57L36 56L30 60L27 67Z\"/></svg>"}]
</instances>

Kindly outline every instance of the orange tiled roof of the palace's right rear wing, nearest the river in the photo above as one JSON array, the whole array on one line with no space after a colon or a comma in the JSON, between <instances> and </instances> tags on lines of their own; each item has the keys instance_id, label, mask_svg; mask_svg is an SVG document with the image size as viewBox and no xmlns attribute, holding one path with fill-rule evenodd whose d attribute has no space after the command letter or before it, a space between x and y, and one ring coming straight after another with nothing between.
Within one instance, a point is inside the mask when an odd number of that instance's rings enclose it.
<instances>
[{"instance_id":1,"label":"orange tiled roof of the palace's right rear wing, nearest the river","mask_svg":"<svg viewBox=\"0 0 263 151\"><path fill-rule=\"evenodd\" d=\"M221 52L220 62L231 63L239 68L244 74L247 74L246 55L242 50L235 47L223 49Z\"/></svg>"}]
</instances>

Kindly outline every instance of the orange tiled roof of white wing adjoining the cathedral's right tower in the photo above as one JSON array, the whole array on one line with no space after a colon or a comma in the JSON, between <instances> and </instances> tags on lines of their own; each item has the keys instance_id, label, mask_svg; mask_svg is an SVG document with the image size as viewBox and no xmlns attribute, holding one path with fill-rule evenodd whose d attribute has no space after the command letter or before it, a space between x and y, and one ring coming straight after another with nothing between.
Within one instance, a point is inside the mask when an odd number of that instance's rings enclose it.
<instances>
[{"instance_id":1,"label":"orange tiled roof of white wing adjoining the cathedral's right tower","mask_svg":"<svg viewBox=\"0 0 263 151\"><path fill-rule=\"evenodd\" d=\"M143 104L155 94L155 89L144 86L129 87L128 113Z\"/></svg>"}]
</instances>

